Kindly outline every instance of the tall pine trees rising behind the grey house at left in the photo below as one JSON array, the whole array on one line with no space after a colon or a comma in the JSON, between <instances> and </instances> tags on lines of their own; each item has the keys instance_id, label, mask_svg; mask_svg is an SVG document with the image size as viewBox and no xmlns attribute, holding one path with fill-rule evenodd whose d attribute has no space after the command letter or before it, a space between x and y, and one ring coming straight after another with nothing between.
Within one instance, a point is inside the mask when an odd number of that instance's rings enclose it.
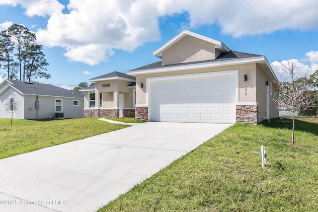
<instances>
[{"instance_id":1,"label":"tall pine trees rising behind the grey house at left","mask_svg":"<svg viewBox=\"0 0 318 212\"><path fill-rule=\"evenodd\" d=\"M36 35L25 26L12 24L0 32L0 68L5 77L20 81L50 78L43 47L36 43Z\"/></svg>"}]
</instances>

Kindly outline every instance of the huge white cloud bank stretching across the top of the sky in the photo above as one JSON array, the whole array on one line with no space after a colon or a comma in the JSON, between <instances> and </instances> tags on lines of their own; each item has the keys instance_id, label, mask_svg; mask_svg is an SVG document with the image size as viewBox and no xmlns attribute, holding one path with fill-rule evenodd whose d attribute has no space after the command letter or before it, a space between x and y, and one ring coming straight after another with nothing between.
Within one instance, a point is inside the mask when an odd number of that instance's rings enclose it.
<instances>
[{"instance_id":1,"label":"huge white cloud bank stretching across the top of the sky","mask_svg":"<svg viewBox=\"0 0 318 212\"><path fill-rule=\"evenodd\" d=\"M218 24L222 33L240 37L276 30L317 30L317 0L70 0L68 14L57 0L0 0L20 4L26 14L49 15L37 31L38 42L66 49L71 61L107 61L114 50L133 51L160 38L159 17L187 12L182 27Z\"/></svg>"}]
</instances>

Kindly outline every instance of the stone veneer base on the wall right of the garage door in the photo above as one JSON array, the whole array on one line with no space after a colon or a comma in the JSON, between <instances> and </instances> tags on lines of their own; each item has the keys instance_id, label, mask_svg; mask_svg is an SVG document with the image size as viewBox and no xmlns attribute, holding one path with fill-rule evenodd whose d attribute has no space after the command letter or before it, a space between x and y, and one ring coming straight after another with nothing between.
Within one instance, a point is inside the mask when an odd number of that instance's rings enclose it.
<instances>
[{"instance_id":1,"label":"stone veneer base on the wall right of the garage door","mask_svg":"<svg viewBox=\"0 0 318 212\"><path fill-rule=\"evenodd\" d=\"M257 125L258 105L237 105L237 122Z\"/></svg>"}]
</instances>

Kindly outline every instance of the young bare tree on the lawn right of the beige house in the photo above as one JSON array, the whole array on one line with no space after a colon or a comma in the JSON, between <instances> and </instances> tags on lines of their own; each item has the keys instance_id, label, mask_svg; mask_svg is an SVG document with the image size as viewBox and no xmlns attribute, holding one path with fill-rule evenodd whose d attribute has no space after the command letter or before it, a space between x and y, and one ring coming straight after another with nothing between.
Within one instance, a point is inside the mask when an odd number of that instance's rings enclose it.
<instances>
[{"instance_id":1,"label":"young bare tree on the lawn right of the beige house","mask_svg":"<svg viewBox=\"0 0 318 212\"><path fill-rule=\"evenodd\" d=\"M306 85L307 78L299 77L297 70L299 67L294 62L288 62L287 65L281 63L281 69L285 71L289 78L284 79L279 84L278 99L273 101L282 110L289 110L293 114L293 127L292 127L292 145L294 145L295 134L295 111L299 111L300 108L306 108L311 104L311 97L309 95L309 87Z\"/></svg>"}]
</instances>

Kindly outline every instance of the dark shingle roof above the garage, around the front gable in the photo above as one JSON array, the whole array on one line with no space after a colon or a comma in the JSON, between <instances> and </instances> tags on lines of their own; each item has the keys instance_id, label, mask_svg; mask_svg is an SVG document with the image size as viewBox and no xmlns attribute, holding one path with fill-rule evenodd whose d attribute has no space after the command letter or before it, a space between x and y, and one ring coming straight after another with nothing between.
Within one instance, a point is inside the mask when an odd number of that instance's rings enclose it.
<instances>
[{"instance_id":1,"label":"dark shingle roof above the garage, around the front gable","mask_svg":"<svg viewBox=\"0 0 318 212\"><path fill-rule=\"evenodd\" d=\"M254 58L254 57L262 57L262 55L254 55L254 54L248 54L243 52L235 52L230 51L228 53L222 53L220 54L217 59L215 60L207 60L207 61L196 61L196 62L189 62L189 63L180 63L180 64L171 64L171 65L162 65L162 61L149 64L147 66L143 66L134 70L130 71L139 71L139 70L149 70L149 69L159 69L163 67L174 67L174 66L184 66L184 65L190 65L190 64L200 64L200 63L210 63L210 62L218 62L218 61L228 61L228 60L235 60L235 59L242 59L242 58Z\"/></svg>"}]
</instances>

